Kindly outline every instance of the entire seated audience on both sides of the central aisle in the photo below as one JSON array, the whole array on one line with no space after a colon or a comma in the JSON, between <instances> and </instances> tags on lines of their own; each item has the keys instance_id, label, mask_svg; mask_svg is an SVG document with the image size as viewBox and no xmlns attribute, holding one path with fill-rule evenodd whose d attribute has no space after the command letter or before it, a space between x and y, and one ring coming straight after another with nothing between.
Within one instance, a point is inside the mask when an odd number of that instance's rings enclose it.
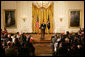
<instances>
[{"instance_id":1,"label":"entire seated audience on both sides of the central aisle","mask_svg":"<svg viewBox=\"0 0 85 57\"><path fill-rule=\"evenodd\" d=\"M57 35L51 37L53 56L83 56L84 55L84 29L78 32ZM1 56L35 56L33 38L30 34L19 32L9 34L1 29Z\"/></svg>"}]
</instances>

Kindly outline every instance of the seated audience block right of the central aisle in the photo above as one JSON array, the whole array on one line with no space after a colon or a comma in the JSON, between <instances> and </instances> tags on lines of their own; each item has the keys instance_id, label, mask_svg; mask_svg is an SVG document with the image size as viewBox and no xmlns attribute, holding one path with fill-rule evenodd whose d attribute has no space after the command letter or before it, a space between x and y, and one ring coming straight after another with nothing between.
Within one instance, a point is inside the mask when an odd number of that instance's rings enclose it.
<instances>
[{"instance_id":1,"label":"seated audience block right of the central aisle","mask_svg":"<svg viewBox=\"0 0 85 57\"><path fill-rule=\"evenodd\" d=\"M80 32L80 33L79 33ZM53 36L52 36L53 37ZM54 56L83 56L84 55L84 29L80 29L77 33L61 34L60 41L56 44L56 52ZM58 40L58 36L57 36ZM53 41L51 39L51 41ZM55 48L53 48L55 51Z\"/></svg>"}]
</instances>

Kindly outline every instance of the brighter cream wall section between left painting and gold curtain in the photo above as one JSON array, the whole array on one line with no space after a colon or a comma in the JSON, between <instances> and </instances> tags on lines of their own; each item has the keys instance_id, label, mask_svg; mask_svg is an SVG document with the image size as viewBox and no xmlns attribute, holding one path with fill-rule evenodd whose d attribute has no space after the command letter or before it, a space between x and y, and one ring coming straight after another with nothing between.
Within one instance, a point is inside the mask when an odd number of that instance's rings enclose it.
<instances>
[{"instance_id":1,"label":"brighter cream wall section between left painting and gold curtain","mask_svg":"<svg viewBox=\"0 0 85 57\"><path fill-rule=\"evenodd\" d=\"M19 32L32 32L32 3L27 1L17 2L17 24ZM23 21L23 18L26 21Z\"/></svg>"}]
</instances>

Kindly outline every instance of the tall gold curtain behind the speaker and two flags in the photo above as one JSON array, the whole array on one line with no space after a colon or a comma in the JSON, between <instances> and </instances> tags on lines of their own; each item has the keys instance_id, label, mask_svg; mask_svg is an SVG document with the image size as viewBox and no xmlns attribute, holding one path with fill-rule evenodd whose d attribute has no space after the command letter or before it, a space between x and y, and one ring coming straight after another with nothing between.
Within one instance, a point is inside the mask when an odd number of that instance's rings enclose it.
<instances>
[{"instance_id":1,"label":"tall gold curtain behind the speaker and two flags","mask_svg":"<svg viewBox=\"0 0 85 57\"><path fill-rule=\"evenodd\" d=\"M53 33L53 3L48 8L45 8L44 12L41 10L41 8L37 8L35 5L32 4L33 33L41 33L41 30L38 29L36 26L37 16L39 18L39 26L43 22L43 17L44 17L44 23L46 24L45 33L48 33L48 29L47 29L48 15L50 20L50 33Z\"/></svg>"}]
</instances>

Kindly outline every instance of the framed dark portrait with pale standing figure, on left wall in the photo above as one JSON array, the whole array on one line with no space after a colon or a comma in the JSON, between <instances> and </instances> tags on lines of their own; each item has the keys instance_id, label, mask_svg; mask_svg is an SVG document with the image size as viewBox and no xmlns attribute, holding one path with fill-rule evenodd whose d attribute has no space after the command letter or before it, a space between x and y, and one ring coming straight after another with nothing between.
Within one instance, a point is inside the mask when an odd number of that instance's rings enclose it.
<instances>
[{"instance_id":1,"label":"framed dark portrait with pale standing figure, on left wall","mask_svg":"<svg viewBox=\"0 0 85 57\"><path fill-rule=\"evenodd\" d=\"M4 25L6 28L16 28L15 10L4 11Z\"/></svg>"}]
</instances>

